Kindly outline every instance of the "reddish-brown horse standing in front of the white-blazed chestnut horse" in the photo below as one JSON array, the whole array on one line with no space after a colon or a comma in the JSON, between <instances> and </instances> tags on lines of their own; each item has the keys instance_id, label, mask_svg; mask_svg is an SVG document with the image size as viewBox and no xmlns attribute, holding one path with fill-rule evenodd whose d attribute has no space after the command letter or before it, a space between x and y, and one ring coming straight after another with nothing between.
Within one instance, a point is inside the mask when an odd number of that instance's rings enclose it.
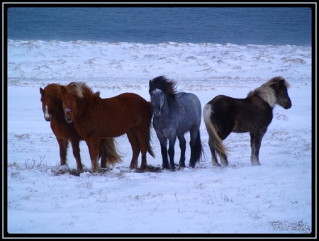
<instances>
[{"instance_id":1,"label":"reddish-brown horse standing in front of the white-blazed chestnut horse","mask_svg":"<svg viewBox=\"0 0 319 241\"><path fill-rule=\"evenodd\" d=\"M71 82L62 86L63 110L68 123L74 123L89 147L91 171L97 172L98 144L101 138L115 138L126 133L133 150L130 168L147 169L147 151L154 157L150 146L152 106L138 94L124 93L101 99L86 84Z\"/></svg>"}]
</instances>

